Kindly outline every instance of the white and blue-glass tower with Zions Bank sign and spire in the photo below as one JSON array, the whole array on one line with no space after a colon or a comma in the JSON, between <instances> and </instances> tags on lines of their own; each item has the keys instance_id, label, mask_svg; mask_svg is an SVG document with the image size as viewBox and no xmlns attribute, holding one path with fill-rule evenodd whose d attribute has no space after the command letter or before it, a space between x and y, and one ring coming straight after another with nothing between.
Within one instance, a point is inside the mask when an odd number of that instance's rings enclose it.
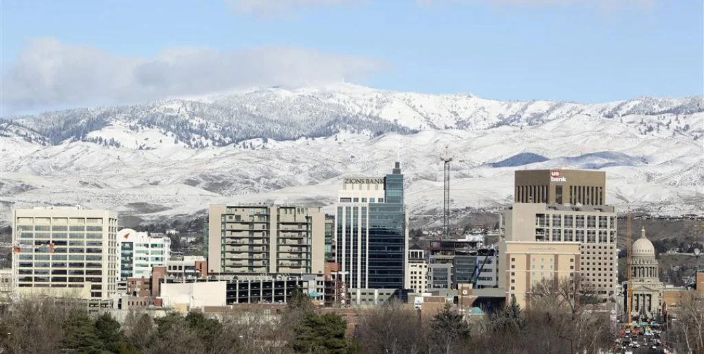
<instances>
[{"instance_id":1,"label":"white and blue-glass tower with Zions Bank sign and spire","mask_svg":"<svg viewBox=\"0 0 704 354\"><path fill-rule=\"evenodd\" d=\"M382 178L345 178L335 230L339 274L348 288L400 289L408 268L408 215L396 162Z\"/></svg>"}]
</instances>

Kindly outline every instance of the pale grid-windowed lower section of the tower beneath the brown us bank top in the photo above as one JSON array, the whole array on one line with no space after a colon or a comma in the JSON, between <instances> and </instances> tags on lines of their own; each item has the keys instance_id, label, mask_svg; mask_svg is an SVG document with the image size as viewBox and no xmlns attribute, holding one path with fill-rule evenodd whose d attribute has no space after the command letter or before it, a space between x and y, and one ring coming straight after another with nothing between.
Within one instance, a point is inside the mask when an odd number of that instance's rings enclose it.
<instances>
[{"instance_id":1,"label":"pale grid-windowed lower section of the tower beneath the brown us bank top","mask_svg":"<svg viewBox=\"0 0 704 354\"><path fill-rule=\"evenodd\" d=\"M502 218L506 241L577 242L584 284L603 296L617 291L616 226L613 206L514 203Z\"/></svg>"}]
</instances>

